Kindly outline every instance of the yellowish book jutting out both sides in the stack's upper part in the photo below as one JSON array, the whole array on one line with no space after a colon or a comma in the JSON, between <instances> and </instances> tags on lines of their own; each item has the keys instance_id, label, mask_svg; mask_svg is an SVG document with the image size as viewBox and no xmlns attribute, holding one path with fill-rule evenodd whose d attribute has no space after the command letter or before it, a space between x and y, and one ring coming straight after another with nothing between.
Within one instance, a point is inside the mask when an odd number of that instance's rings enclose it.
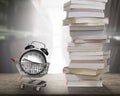
<instances>
[{"instance_id":1,"label":"yellowish book jutting out both sides in the stack's upper part","mask_svg":"<svg viewBox=\"0 0 120 96\"><path fill-rule=\"evenodd\" d=\"M63 20L63 25L71 24L71 23L83 23L83 24L108 24L108 18L86 18L86 17L77 17L77 18L66 18Z\"/></svg>"}]
</instances>

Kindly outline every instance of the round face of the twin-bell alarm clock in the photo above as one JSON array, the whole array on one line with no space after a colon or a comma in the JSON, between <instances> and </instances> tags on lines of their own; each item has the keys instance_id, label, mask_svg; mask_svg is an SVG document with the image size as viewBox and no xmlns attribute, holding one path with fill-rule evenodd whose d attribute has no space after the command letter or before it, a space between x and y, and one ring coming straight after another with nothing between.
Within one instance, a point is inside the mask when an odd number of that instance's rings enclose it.
<instances>
[{"instance_id":1,"label":"round face of the twin-bell alarm clock","mask_svg":"<svg viewBox=\"0 0 120 96\"><path fill-rule=\"evenodd\" d=\"M20 58L21 69L29 75L41 73L46 66L45 63L45 56L38 50L27 51Z\"/></svg>"}]
</instances>

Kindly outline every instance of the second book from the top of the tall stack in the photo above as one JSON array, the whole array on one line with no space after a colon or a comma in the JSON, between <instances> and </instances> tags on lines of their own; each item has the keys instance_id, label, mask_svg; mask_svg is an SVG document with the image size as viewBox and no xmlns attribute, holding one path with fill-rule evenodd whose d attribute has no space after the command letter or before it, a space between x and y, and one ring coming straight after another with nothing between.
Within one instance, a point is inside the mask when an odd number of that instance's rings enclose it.
<instances>
[{"instance_id":1,"label":"second book from the top of the tall stack","mask_svg":"<svg viewBox=\"0 0 120 96\"><path fill-rule=\"evenodd\" d=\"M70 9L100 9L105 10L105 6L93 6L93 5L83 5L83 4L70 4L69 6L65 6L64 10L70 10Z\"/></svg>"}]
</instances>

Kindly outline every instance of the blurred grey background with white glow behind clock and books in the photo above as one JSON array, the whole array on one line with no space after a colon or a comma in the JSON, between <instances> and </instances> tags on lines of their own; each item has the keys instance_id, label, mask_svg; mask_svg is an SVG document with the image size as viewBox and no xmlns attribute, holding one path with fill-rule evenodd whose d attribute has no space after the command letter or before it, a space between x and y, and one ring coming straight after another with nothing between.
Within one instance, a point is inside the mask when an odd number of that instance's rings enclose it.
<instances>
[{"instance_id":1,"label":"blurred grey background with white glow behind clock and books","mask_svg":"<svg viewBox=\"0 0 120 96\"><path fill-rule=\"evenodd\" d=\"M0 0L0 73L17 72L10 57L20 58L31 41L46 44L50 55L49 73L62 73L68 65L68 27L62 20L63 4L68 0ZM120 0L108 0L105 10L109 24L106 32L111 43L110 72L120 72Z\"/></svg>"}]
</instances>

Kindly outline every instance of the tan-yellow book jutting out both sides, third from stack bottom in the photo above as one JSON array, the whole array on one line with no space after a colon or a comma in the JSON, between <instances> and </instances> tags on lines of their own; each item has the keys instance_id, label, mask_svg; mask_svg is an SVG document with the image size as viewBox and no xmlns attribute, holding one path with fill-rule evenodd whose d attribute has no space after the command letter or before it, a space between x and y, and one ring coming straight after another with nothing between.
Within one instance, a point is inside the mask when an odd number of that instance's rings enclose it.
<instances>
[{"instance_id":1,"label":"tan-yellow book jutting out both sides, third from stack bottom","mask_svg":"<svg viewBox=\"0 0 120 96\"><path fill-rule=\"evenodd\" d=\"M64 67L63 72L65 74L79 74L79 75L89 75L89 76L96 76L98 74L103 74L106 72L109 72L109 66L107 65L106 67L102 69L86 69L86 68L69 68L69 67Z\"/></svg>"}]
</instances>

